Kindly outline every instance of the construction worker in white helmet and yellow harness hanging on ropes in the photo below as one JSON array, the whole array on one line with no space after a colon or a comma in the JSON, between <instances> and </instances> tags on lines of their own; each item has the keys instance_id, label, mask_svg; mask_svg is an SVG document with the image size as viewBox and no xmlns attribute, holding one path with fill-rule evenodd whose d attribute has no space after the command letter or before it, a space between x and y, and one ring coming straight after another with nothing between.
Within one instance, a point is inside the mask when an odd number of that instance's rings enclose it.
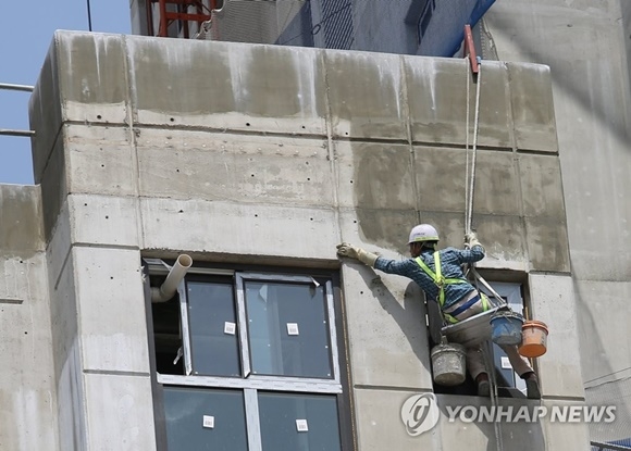
<instances>
[{"instance_id":1,"label":"construction worker in white helmet and yellow harness hanging on ropes","mask_svg":"<svg viewBox=\"0 0 631 451\"><path fill-rule=\"evenodd\" d=\"M384 273L412 279L429 299L438 303L449 324L488 310L488 299L467 280L461 266L484 258L484 248L477 235L470 233L465 236L463 250L447 248L437 251L438 240L438 233L433 226L420 224L410 231L408 245L411 259L388 260L346 242L337 246L337 254L359 260ZM537 377L528 361L519 354L517 347L503 346L502 349L515 372L525 380L528 398L541 398ZM478 394L490 396L488 374L480 346L467 349L467 367L478 385Z\"/></svg>"}]
</instances>

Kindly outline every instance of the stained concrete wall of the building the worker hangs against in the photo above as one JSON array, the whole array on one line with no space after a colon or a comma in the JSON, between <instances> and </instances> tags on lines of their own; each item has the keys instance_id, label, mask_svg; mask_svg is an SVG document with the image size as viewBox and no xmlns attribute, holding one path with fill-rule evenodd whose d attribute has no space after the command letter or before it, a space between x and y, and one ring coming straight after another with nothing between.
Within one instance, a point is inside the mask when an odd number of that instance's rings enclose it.
<instances>
[{"instance_id":1,"label":"stained concrete wall of the building the worker hangs against","mask_svg":"<svg viewBox=\"0 0 631 451\"><path fill-rule=\"evenodd\" d=\"M465 64L55 34L30 115L61 449L156 446L141 253L339 267L339 241L400 258L420 221L459 246ZM540 360L544 397L580 402L580 360L564 352L576 318L555 314L572 309L573 286L550 74L496 62L480 83L481 267L529 275L531 308L556 330ZM432 389L418 288L351 262L341 271L358 449L495 447L481 425L405 433L403 401ZM587 447L583 425L533 427L545 449ZM506 429L505 446L522 449L527 433Z\"/></svg>"}]
</instances>

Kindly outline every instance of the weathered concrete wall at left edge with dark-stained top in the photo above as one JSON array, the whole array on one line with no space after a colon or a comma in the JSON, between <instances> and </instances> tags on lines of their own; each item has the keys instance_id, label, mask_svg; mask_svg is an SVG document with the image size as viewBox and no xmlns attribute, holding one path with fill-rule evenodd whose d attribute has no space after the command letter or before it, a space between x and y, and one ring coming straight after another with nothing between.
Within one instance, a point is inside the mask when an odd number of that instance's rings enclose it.
<instances>
[{"instance_id":1,"label":"weathered concrete wall at left edge with dark-stained top","mask_svg":"<svg viewBox=\"0 0 631 451\"><path fill-rule=\"evenodd\" d=\"M57 449L40 187L0 185L0 447Z\"/></svg>"}]
</instances>

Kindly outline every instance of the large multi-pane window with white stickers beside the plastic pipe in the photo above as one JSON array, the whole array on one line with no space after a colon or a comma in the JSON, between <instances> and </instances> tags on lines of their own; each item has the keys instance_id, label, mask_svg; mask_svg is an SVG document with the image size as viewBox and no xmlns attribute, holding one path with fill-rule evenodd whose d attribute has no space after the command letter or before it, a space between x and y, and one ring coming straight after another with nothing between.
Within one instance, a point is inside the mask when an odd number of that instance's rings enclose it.
<instances>
[{"instance_id":1,"label":"large multi-pane window with white stickers beside the plastic pipe","mask_svg":"<svg viewBox=\"0 0 631 451\"><path fill-rule=\"evenodd\" d=\"M159 286L166 265L145 262ZM336 280L193 267L152 303L161 449L350 449Z\"/></svg>"}]
</instances>

